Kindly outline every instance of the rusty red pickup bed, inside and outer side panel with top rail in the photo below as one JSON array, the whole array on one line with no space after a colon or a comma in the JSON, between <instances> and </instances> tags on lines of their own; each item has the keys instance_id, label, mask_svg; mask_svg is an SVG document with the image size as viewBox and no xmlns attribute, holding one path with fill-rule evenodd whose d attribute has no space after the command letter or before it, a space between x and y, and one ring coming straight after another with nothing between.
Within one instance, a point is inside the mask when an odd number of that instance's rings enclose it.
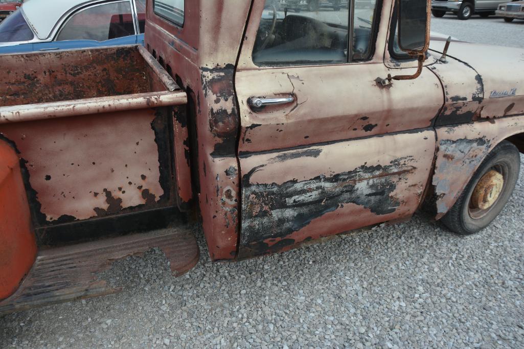
<instances>
[{"instance_id":1,"label":"rusty red pickup bed, inside and outer side panel with top rail","mask_svg":"<svg viewBox=\"0 0 524 349\"><path fill-rule=\"evenodd\" d=\"M187 187L187 96L144 47L0 61L0 141L20 158L40 246L167 223Z\"/></svg>"}]
</instances>

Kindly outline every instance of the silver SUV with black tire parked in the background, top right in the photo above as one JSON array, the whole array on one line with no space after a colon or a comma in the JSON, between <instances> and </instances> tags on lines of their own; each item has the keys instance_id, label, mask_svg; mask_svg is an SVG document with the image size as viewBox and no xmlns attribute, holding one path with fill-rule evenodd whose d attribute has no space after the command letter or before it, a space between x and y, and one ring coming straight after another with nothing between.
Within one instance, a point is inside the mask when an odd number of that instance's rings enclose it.
<instances>
[{"instance_id":1,"label":"silver SUV with black tire parked in the background, top right","mask_svg":"<svg viewBox=\"0 0 524 349\"><path fill-rule=\"evenodd\" d=\"M431 0L431 13L435 17L443 17L446 12L453 12L459 19L469 19L473 14L481 17L494 15L498 5L508 0Z\"/></svg>"}]
</instances>

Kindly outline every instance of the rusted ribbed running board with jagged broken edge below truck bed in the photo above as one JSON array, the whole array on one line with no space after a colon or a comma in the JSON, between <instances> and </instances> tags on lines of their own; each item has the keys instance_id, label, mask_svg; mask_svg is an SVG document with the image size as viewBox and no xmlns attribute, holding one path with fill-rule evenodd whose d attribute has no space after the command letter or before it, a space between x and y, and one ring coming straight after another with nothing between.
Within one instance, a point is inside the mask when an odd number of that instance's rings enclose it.
<instances>
[{"instance_id":1,"label":"rusted ribbed running board with jagged broken edge below truck bed","mask_svg":"<svg viewBox=\"0 0 524 349\"><path fill-rule=\"evenodd\" d=\"M200 256L188 227L40 250L18 290L0 301L0 314L119 292L121 288L111 287L96 274L110 268L115 260L141 255L154 247L166 255L174 276L193 268Z\"/></svg>"}]
</instances>

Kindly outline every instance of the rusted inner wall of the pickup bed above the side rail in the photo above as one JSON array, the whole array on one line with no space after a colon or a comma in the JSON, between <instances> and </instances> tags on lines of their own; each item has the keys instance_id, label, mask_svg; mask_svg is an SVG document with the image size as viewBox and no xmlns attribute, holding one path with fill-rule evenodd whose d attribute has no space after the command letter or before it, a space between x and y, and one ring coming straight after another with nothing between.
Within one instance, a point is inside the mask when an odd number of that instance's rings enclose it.
<instances>
[{"instance_id":1,"label":"rusted inner wall of the pickup bed above the side rail","mask_svg":"<svg viewBox=\"0 0 524 349\"><path fill-rule=\"evenodd\" d=\"M0 106L169 90L138 46L0 55Z\"/></svg>"}]
</instances>

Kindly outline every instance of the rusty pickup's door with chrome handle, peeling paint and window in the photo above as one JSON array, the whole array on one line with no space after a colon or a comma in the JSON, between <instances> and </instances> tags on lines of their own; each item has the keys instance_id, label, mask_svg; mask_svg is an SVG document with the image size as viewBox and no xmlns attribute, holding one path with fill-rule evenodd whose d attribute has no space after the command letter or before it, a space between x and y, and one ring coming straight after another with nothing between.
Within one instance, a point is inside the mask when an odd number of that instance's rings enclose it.
<instances>
[{"instance_id":1,"label":"rusty pickup's door with chrome handle, peeling paint and window","mask_svg":"<svg viewBox=\"0 0 524 349\"><path fill-rule=\"evenodd\" d=\"M238 256L409 217L428 181L443 95L427 69L377 83L415 70L384 64L390 3L353 15L265 5L253 4L235 75Z\"/></svg>"}]
</instances>

